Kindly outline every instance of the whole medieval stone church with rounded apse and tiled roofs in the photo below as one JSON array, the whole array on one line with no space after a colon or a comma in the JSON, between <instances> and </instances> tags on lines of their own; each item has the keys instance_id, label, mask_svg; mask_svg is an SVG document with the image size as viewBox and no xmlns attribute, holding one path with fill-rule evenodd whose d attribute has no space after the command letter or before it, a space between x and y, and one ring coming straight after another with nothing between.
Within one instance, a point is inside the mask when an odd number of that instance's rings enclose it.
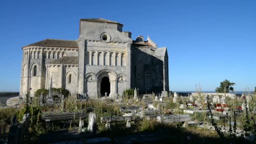
<instances>
[{"instance_id":1,"label":"whole medieval stone church with rounded apse and tiled roofs","mask_svg":"<svg viewBox=\"0 0 256 144\"><path fill-rule=\"evenodd\" d=\"M167 49L147 37L131 39L123 24L80 19L77 40L45 39L22 47L20 95L40 88L66 88L89 97L169 91Z\"/></svg>"}]
</instances>

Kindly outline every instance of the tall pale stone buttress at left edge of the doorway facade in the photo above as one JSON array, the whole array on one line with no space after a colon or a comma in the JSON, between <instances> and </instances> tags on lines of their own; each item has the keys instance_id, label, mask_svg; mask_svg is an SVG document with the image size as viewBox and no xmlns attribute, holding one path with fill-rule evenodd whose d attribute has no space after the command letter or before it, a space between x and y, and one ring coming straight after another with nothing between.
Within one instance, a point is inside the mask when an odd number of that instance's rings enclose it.
<instances>
[{"instance_id":1,"label":"tall pale stone buttress at left edge of the doorway facade","mask_svg":"<svg viewBox=\"0 0 256 144\"><path fill-rule=\"evenodd\" d=\"M78 39L79 41L79 72L78 72L78 93L84 94L84 75L85 75L85 40Z\"/></svg>"}]
</instances>

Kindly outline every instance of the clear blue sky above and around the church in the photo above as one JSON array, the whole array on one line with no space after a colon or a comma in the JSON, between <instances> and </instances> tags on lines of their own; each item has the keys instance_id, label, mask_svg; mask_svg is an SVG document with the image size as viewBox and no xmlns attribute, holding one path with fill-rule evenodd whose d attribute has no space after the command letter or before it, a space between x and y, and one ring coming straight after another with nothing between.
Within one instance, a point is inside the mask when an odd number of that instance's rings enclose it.
<instances>
[{"instance_id":1,"label":"clear blue sky above and around the church","mask_svg":"<svg viewBox=\"0 0 256 144\"><path fill-rule=\"evenodd\" d=\"M256 86L255 0L1 0L0 91L19 91L21 47L46 38L76 40L79 19L124 24L132 38L166 46L172 91Z\"/></svg>"}]
</instances>

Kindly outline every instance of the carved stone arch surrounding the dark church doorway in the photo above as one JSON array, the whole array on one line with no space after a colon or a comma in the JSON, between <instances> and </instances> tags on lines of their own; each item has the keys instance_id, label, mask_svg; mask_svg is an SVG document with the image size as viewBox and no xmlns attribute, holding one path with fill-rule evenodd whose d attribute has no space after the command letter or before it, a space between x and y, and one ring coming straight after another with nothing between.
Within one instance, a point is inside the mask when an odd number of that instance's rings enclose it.
<instances>
[{"instance_id":1,"label":"carved stone arch surrounding the dark church doorway","mask_svg":"<svg viewBox=\"0 0 256 144\"><path fill-rule=\"evenodd\" d=\"M96 91L100 94L101 80L103 77L108 77L110 82L109 97L115 99L117 96L117 74L111 69L102 69L96 74Z\"/></svg>"}]
</instances>

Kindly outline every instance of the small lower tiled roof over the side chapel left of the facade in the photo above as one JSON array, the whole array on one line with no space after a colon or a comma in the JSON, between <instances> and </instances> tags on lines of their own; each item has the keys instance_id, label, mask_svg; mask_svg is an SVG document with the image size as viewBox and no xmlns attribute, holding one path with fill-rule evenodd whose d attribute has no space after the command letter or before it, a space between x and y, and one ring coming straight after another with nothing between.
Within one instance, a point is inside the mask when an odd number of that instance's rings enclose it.
<instances>
[{"instance_id":1,"label":"small lower tiled roof over the side chapel left of the facade","mask_svg":"<svg viewBox=\"0 0 256 144\"><path fill-rule=\"evenodd\" d=\"M48 62L46 64L69 64L69 65L77 65L78 64L78 56L64 56L62 58L56 59L54 61Z\"/></svg>"}]
</instances>

